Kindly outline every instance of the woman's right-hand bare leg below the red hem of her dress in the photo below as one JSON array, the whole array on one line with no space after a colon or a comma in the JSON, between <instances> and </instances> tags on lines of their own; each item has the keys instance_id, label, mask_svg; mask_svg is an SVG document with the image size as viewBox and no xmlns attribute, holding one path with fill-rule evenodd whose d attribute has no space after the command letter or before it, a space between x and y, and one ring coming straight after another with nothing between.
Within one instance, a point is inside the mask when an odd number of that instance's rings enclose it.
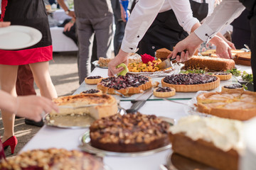
<instances>
[{"instance_id":1,"label":"woman's right-hand bare leg below the red hem of her dress","mask_svg":"<svg viewBox=\"0 0 256 170\"><path fill-rule=\"evenodd\" d=\"M29 64L29 66L31 67L36 85L40 89L41 96L50 99L57 98L57 92L50 79L49 62L36 62Z\"/></svg>"}]
</instances>

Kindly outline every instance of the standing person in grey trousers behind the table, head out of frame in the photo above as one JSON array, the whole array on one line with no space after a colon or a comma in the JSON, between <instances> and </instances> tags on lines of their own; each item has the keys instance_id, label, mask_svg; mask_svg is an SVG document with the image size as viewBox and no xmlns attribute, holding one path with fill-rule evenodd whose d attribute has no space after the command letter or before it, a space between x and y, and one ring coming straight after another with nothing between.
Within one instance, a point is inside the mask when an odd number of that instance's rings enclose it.
<instances>
[{"instance_id":1,"label":"standing person in grey trousers behind the table, head out of frame","mask_svg":"<svg viewBox=\"0 0 256 170\"><path fill-rule=\"evenodd\" d=\"M69 11L64 0L58 4ZM91 72L92 42L97 40L97 58L111 57L113 11L110 0L75 0L75 23L78 35L78 74L80 84Z\"/></svg>"}]
</instances>

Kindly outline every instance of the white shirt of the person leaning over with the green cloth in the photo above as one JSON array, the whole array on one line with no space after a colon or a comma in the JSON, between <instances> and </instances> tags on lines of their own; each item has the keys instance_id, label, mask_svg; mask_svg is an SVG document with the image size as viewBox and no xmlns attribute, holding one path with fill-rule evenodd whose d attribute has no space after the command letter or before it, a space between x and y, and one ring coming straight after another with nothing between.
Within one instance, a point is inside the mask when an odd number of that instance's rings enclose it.
<instances>
[{"instance_id":1,"label":"white shirt of the person leaning over with the green cloth","mask_svg":"<svg viewBox=\"0 0 256 170\"><path fill-rule=\"evenodd\" d=\"M193 1L202 3L203 0ZM213 13L215 0L206 0L206 3L209 16ZM178 23L188 33L191 33L191 28L199 23L197 18L193 18L189 0L139 0L128 19L121 49L124 52L134 52L157 14L170 9L174 10Z\"/></svg>"}]
</instances>

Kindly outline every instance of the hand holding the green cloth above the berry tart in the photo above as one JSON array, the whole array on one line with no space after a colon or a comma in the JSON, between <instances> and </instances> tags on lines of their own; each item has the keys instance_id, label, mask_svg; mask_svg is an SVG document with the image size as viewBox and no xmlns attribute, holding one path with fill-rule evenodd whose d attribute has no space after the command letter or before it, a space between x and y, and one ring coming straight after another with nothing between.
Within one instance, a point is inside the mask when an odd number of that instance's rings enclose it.
<instances>
[{"instance_id":1,"label":"hand holding the green cloth above the berry tart","mask_svg":"<svg viewBox=\"0 0 256 170\"><path fill-rule=\"evenodd\" d=\"M108 64L108 76L112 77L114 74L117 74L119 72L122 72L124 67L116 68L119 64L124 63L128 64L128 52L124 52L123 50L119 50L116 57L114 57L113 60L111 60Z\"/></svg>"}]
</instances>

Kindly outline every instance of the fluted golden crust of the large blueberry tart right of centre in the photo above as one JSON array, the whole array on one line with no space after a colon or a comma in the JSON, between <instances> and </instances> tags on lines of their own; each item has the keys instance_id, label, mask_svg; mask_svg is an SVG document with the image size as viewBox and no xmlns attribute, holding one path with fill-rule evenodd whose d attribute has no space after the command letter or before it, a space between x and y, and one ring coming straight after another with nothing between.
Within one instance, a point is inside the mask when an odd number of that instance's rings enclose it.
<instances>
[{"instance_id":1,"label":"fluted golden crust of the large blueberry tart right of centre","mask_svg":"<svg viewBox=\"0 0 256 170\"><path fill-rule=\"evenodd\" d=\"M194 91L207 91L212 90L220 86L220 78L217 77L216 81L206 83L206 84L189 84L189 85L183 85L183 84L168 84L164 82L164 78L161 79L162 86L169 86L174 88L176 91L179 92L194 92Z\"/></svg>"}]
</instances>

